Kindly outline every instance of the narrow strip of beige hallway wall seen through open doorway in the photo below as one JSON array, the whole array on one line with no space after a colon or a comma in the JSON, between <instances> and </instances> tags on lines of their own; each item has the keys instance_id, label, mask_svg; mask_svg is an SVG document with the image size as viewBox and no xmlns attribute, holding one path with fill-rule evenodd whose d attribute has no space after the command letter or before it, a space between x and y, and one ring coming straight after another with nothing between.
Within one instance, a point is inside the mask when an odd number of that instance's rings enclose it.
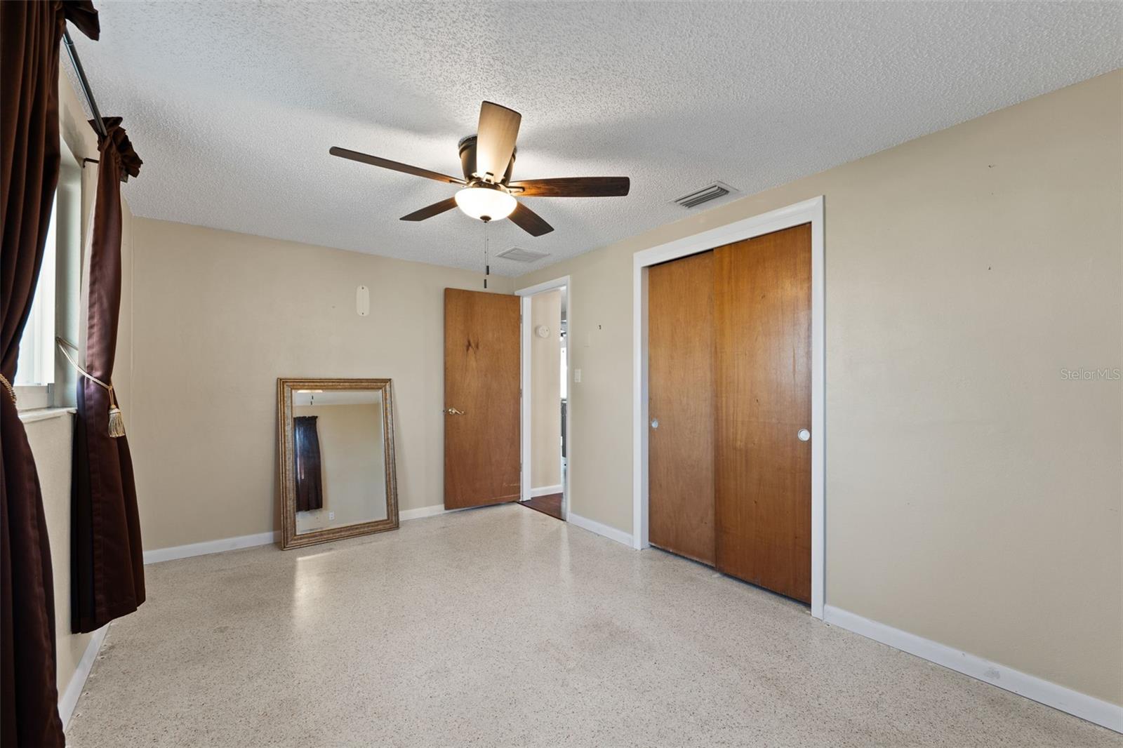
<instances>
[{"instance_id":1,"label":"narrow strip of beige hallway wall seen through open doorway","mask_svg":"<svg viewBox=\"0 0 1123 748\"><path fill-rule=\"evenodd\" d=\"M530 298L530 487L562 484L562 291ZM538 337L540 325L548 338Z\"/></svg>"}]
</instances>

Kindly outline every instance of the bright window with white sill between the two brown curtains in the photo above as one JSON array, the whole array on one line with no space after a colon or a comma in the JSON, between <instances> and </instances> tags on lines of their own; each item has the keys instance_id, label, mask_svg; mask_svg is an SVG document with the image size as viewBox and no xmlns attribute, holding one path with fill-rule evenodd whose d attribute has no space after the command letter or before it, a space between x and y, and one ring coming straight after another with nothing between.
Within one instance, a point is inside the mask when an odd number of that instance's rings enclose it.
<instances>
[{"instance_id":1,"label":"bright window with white sill between the two brown curtains","mask_svg":"<svg viewBox=\"0 0 1123 748\"><path fill-rule=\"evenodd\" d=\"M76 380L66 370L69 364L56 353L55 336L73 339L77 329L82 170L65 143L62 154L43 266L19 340L19 361L12 382L19 410L74 403L73 383Z\"/></svg>"}]
</instances>

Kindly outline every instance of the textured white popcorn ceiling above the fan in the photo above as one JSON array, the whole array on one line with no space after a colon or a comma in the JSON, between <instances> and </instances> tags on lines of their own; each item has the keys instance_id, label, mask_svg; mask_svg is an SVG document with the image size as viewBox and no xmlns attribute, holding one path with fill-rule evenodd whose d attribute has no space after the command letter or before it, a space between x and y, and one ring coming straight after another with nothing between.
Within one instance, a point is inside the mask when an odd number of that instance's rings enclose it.
<instances>
[{"instance_id":1,"label":"textured white popcorn ceiling above the fan","mask_svg":"<svg viewBox=\"0 0 1123 748\"><path fill-rule=\"evenodd\" d=\"M515 275L1123 66L1119 3L98 2L75 42L145 165L138 216L455 267L454 186L328 155L459 174L480 102L522 112L514 179L627 175L627 198L528 203L555 231L489 227ZM712 204L712 203L711 203Z\"/></svg>"}]
</instances>

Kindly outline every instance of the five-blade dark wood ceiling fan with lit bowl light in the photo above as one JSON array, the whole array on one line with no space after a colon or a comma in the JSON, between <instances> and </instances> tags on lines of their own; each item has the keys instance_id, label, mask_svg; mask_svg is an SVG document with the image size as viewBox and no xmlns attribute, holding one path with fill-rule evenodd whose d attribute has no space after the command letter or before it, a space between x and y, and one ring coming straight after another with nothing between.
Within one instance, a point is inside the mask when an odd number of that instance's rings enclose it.
<instances>
[{"instance_id":1,"label":"five-blade dark wood ceiling fan with lit bowl light","mask_svg":"<svg viewBox=\"0 0 1123 748\"><path fill-rule=\"evenodd\" d=\"M459 143L460 168L464 179L431 172L428 168L401 164L389 158L371 156L357 150L334 146L332 156L350 158L372 166L424 176L426 179L462 184L454 197L402 216L403 221L423 221L446 210L459 208L472 218L485 224L510 218L519 228L532 236L549 234L554 227L530 210L519 198L611 198L628 194L627 176L566 176L553 180L511 181L514 167L514 140L519 135L522 115L485 101L480 107L480 126L475 135Z\"/></svg>"}]
</instances>

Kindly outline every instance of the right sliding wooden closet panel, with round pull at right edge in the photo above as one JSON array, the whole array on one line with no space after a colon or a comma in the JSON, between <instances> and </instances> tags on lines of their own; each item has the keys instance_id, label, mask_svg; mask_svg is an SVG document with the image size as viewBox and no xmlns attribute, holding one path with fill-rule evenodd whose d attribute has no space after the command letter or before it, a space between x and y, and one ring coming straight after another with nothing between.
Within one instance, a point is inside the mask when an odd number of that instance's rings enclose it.
<instances>
[{"instance_id":1,"label":"right sliding wooden closet panel, with round pull at right edge","mask_svg":"<svg viewBox=\"0 0 1123 748\"><path fill-rule=\"evenodd\" d=\"M719 247L714 275L716 566L810 602L811 225Z\"/></svg>"}]
</instances>

